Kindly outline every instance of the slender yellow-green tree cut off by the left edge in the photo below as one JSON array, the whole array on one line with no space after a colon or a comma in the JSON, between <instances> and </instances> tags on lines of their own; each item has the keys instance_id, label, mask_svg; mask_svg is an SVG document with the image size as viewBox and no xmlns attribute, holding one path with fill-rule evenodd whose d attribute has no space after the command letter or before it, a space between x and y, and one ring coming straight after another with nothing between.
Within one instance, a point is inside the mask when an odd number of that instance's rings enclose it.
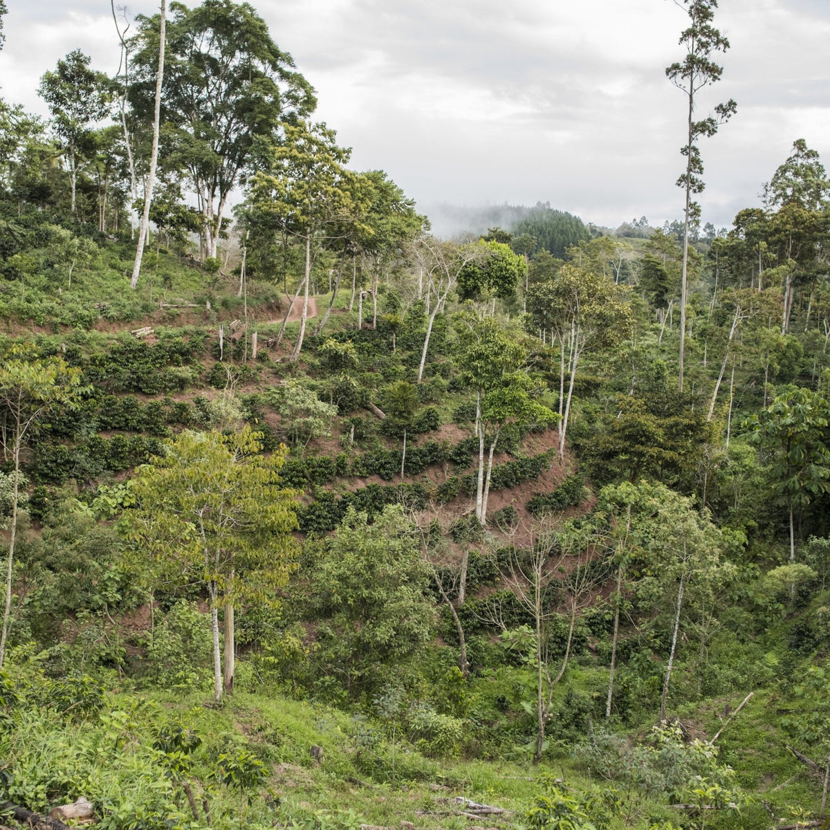
<instances>
[{"instance_id":1,"label":"slender yellow-green tree cut off by the left edge","mask_svg":"<svg viewBox=\"0 0 830 830\"><path fill-rule=\"evenodd\" d=\"M81 370L59 357L41 358L32 346L12 346L0 362L0 436L3 455L12 461L12 517L8 525L6 601L0 631L0 668L6 656L12 611L12 567L17 540L21 455L32 429L58 407L70 408L81 393Z\"/></svg>"}]
</instances>

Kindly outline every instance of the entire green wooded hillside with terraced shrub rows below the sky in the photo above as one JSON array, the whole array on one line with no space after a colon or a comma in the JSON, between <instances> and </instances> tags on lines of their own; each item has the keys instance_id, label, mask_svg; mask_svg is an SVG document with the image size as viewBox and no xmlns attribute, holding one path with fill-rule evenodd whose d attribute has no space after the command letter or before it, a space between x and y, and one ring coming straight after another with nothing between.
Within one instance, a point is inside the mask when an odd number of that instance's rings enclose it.
<instances>
[{"instance_id":1,"label":"entire green wooded hillside with terraced shrub rows below the sky","mask_svg":"<svg viewBox=\"0 0 830 830\"><path fill-rule=\"evenodd\" d=\"M247 3L0 99L0 825L826 827L830 178L703 222L682 6L662 227L437 237Z\"/></svg>"}]
</instances>

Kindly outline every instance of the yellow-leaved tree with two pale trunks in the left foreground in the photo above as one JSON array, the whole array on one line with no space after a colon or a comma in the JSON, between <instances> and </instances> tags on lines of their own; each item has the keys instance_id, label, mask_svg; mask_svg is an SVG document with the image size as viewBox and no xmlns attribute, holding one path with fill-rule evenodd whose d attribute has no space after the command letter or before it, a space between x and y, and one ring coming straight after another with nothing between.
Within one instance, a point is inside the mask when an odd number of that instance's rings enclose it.
<instances>
[{"instance_id":1,"label":"yellow-leaved tree with two pale trunks in the left foreground","mask_svg":"<svg viewBox=\"0 0 830 830\"><path fill-rule=\"evenodd\" d=\"M259 454L257 435L183 432L132 482L129 536L167 574L202 583L210 598L213 695L232 691L234 611L240 598L274 603L295 564L295 491L282 488L282 447ZM224 606L225 662L219 647ZM222 682L224 680L224 683Z\"/></svg>"}]
</instances>

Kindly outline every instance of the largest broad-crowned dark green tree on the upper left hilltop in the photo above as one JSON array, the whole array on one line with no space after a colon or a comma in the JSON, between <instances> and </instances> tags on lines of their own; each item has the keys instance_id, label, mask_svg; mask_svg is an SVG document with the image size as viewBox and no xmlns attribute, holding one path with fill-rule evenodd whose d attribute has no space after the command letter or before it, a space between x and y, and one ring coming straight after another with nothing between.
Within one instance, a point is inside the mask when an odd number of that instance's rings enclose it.
<instances>
[{"instance_id":1,"label":"largest broad-crowned dark green tree on the upper left hilltop","mask_svg":"<svg viewBox=\"0 0 830 830\"><path fill-rule=\"evenodd\" d=\"M248 3L170 5L162 89L165 154L187 170L203 213L207 256L216 256L227 198L251 168L257 138L279 134L315 109L314 90ZM160 17L139 17L130 100L149 122L159 62Z\"/></svg>"}]
</instances>

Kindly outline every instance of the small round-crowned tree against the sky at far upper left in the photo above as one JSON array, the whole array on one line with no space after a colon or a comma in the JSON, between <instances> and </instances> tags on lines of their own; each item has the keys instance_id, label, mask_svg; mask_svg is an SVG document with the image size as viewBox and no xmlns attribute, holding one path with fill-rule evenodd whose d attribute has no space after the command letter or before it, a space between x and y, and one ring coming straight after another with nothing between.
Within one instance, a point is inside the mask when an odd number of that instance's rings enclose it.
<instances>
[{"instance_id":1,"label":"small round-crowned tree against the sky at far upper left","mask_svg":"<svg viewBox=\"0 0 830 830\"><path fill-rule=\"evenodd\" d=\"M44 73L37 90L49 106L52 125L66 147L71 176L71 212L76 212L78 154L90 134L90 125L110 113L110 79L90 68L90 57L80 49L57 62L55 71Z\"/></svg>"}]
</instances>

